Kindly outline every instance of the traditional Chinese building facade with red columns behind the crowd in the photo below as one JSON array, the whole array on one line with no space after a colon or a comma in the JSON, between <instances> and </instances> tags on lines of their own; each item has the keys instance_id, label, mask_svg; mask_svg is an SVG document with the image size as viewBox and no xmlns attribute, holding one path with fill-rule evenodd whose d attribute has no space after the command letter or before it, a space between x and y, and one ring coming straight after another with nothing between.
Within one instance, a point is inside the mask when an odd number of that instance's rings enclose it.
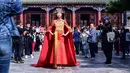
<instances>
[{"instance_id":1,"label":"traditional Chinese building facade with red columns behind the crowd","mask_svg":"<svg viewBox=\"0 0 130 73\"><path fill-rule=\"evenodd\" d=\"M111 0L23 0L23 13L16 16L23 25L31 23L31 25L49 26L54 19L54 10L62 7L65 11L64 19L70 26L89 25L91 22L96 25L99 20L108 16L115 24L121 25L121 14L111 15L105 13L106 3Z\"/></svg>"}]
</instances>

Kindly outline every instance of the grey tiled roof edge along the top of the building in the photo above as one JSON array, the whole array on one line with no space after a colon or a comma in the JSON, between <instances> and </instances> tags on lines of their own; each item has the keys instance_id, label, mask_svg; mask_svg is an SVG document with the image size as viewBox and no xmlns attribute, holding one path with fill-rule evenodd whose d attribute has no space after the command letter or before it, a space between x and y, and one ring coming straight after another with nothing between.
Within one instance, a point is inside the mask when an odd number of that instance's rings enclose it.
<instances>
[{"instance_id":1,"label":"grey tiled roof edge along the top of the building","mask_svg":"<svg viewBox=\"0 0 130 73\"><path fill-rule=\"evenodd\" d=\"M104 4L109 1L111 0L23 0L23 4Z\"/></svg>"}]
</instances>

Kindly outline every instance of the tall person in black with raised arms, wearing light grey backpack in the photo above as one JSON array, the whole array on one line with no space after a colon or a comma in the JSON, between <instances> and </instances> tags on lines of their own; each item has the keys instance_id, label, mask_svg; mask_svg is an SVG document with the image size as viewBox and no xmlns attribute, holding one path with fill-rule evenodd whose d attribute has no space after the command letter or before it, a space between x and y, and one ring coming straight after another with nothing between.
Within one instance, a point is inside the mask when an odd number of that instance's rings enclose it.
<instances>
[{"instance_id":1,"label":"tall person in black with raised arms, wearing light grey backpack","mask_svg":"<svg viewBox=\"0 0 130 73\"><path fill-rule=\"evenodd\" d=\"M104 19L104 24L101 25L102 28L102 50L106 57L105 64L111 64L112 60L112 50L113 50L113 43L108 42L107 40L107 33L112 32L112 24L110 23L108 18Z\"/></svg>"}]
</instances>

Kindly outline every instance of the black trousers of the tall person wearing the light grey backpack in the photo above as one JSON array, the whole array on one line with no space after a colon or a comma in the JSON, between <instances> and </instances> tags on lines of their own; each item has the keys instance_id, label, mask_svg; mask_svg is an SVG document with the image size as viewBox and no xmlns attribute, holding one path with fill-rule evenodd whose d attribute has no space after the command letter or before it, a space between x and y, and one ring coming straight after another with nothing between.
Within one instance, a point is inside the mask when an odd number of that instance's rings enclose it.
<instances>
[{"instance_id":1,"label":"black trousers of the tall person wearing the light grey backpack","mask_svg":"<svg viewBox=\"0 0 130 73\"><path fill-rule=\"evenodd\" d=\"M111 63L113 43L106 43L106 42L102 43L102 49L106 57L106 62Z\"/></svg>"}]
</instances>

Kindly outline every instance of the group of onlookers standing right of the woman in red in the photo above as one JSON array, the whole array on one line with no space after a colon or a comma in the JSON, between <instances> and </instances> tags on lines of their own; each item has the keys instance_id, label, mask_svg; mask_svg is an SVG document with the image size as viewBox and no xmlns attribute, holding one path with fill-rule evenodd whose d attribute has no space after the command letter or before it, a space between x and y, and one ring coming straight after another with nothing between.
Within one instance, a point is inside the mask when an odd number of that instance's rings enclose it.
<instances>
[{"instance_id":1,"label":"group of onlookers standing right of the woman in red","mask_svg":"<svg viewBox=\"0 0 130 73\"><path fill-rule=\"evenodd\" d=\"M84 55L85 58L95 59L98 50L102 50L106 57L105 64L112 63L113 51L121 59L126 59L130 55L130 32L124 26L121 29L113 27L109 18L100 21L100 25L95 27L83 26L80 30L74 28L73 38L76 48L76 54Z\"/></svg>"}]
</instances>

